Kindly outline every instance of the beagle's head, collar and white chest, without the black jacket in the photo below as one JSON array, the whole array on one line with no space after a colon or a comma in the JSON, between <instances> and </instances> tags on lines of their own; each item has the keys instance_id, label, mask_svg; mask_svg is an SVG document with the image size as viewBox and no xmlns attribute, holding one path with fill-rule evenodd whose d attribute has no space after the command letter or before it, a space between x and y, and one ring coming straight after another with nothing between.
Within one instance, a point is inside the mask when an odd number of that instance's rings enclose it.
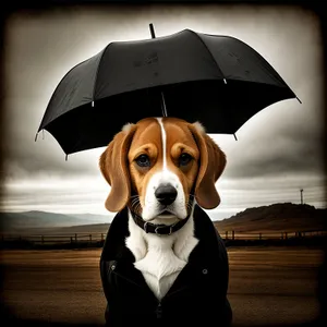
<instances>
[{"instance_id":1,"label":"beagle's head, collar and white chest, without the black jacket","mask_svg":"<svg viewBox=\"0 0 327 327\"><path fill-rule=\"evenodd\" d=\"M220 203L215 183L226 156L198 122L146 118L123 126L99 167L111 186L106 208L128 208L125 246L160 301L198 243L195 205L211 209Z\"/></svg>"}]
</instances>

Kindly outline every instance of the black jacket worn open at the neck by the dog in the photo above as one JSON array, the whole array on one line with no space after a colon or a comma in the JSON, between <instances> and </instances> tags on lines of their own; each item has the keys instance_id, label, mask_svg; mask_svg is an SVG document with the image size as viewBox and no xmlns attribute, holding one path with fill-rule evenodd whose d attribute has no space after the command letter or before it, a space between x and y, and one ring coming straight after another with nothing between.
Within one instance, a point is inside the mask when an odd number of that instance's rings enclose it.
<instances>
[{"instance_id":1,"label":"black jacket worn open at the neck by the dog","mask_svg":"<svg viewBox=\"0 0 327 327\"><path fill-rule=\"evenodd\" d=\"M210 218L194 209L195 237L199 240L189 263L159 302L134 268L125 246L128 209L117 214L108 230L100 257L100 274L107 299L106 323L116 326L229 326L232 312L227 299L227 251ZM136 324L136 325L135 325Z\"/></svg>"}]
</instances>

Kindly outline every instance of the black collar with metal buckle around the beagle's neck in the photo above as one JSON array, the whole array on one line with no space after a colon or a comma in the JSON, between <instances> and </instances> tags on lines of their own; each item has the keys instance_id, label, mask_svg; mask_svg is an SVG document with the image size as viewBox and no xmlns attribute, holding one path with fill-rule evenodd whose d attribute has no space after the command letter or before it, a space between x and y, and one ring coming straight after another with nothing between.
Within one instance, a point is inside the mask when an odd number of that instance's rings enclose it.
<instances>
[{"instance_id":1,"label":"black collar with metal buckle around the beagle's neck","mask_svg":"<svg viewBox=\"0 0 327 327\"><path fill-rule=\"evenodd\" d=\"M164 225L164 223L152 223L142 219L141 216L136 215L135 213L131 211L133 220L135 223L141 227L146 233L154 233L158 235L170 235L171 233L181 229L186 221L189 220L190 216L187 216L183 220L179 220L172 225Z\"/></svg>"}]
</instances>

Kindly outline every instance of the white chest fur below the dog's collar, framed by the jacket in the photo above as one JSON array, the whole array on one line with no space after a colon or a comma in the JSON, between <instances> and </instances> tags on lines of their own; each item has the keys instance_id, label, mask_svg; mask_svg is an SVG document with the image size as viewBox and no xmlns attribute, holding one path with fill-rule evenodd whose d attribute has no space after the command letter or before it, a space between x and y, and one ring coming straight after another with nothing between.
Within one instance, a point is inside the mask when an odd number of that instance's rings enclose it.
<instances>
[{"instance_id":1,"label":"white chest fur below the dog's collar, framed by the jacket","mask_svg":"<svg viewBox=\"0 0 327 327\"><path fill-rule=\"evenodd\" d=\"M194 238L194 221L189 221L171 235L146 233L130 216L130 237L126 246L135 257L138 269L158 300L161 300L173 284L198 240Z\"/></svg>"}]
</instances>

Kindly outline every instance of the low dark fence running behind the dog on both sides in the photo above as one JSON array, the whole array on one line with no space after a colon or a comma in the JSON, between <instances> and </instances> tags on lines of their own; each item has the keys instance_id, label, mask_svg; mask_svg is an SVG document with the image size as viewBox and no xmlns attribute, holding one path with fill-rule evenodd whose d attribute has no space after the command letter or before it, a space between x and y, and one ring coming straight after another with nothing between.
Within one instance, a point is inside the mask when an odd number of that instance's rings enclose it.
<instances>
[{"instance_id":1,"label":"low dark fence running behind the dog on both sides","mask_svg":"<svg viewBox=\"0 0 327 327\"><path fill-rule=\"evenodd\" d=\"M289 240L289 239L304 239L315 237L326 237L326 230L318 231L294 231L294 232L235 232L222 231L221 238L225 241L234 240ZM104 244L106 233L73 233L73 234L2 234L0 243L8 242L28 242L32 244L51 245L51 244Z\"/></svg>"}]
</instances>

